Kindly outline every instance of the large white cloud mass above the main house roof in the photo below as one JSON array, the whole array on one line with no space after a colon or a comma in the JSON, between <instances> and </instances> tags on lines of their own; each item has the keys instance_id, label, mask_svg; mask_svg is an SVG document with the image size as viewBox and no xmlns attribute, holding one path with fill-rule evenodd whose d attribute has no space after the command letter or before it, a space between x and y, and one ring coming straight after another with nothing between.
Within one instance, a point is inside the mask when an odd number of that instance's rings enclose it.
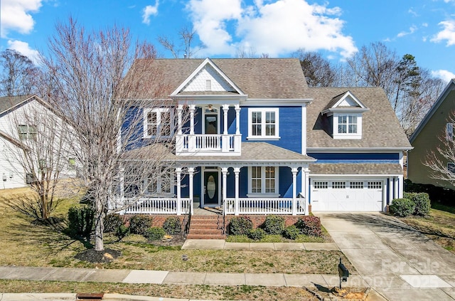
<instances>
[{"instance_id":1,"label":"large white cloud mass above the main house roof","mask_svg":"<svg viewBox=\"0 0 455 301\"><path fill-rule=\"evenodd\" d=\"M233 55L238 48L254 48L274 57L304 48L338 52L347 58L357 51L353 38L341 32L344 21L338 19L338 7L304 0L255 0L250 6L242 2L189 2L193 26L207 46L205 54Z\"/></svg>"}]
</instances>

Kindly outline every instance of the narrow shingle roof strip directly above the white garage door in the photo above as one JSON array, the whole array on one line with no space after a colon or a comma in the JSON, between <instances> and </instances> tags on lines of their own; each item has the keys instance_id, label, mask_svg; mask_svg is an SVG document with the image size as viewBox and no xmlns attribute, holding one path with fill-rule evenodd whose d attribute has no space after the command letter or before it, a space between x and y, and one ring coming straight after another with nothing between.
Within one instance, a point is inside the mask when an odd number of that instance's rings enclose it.
<instances>
[{"instance_id":1,"label":"narrow shingle roof strip directly above the white garage door","mask_svg":"<svg viewBox=\"0 0 455 301\"><path fill-rule=\"evenodd\" d=\"M309 166L310 174L403 174L400 164L332 164L314 163Z\"/></svg>"}]
</instances>

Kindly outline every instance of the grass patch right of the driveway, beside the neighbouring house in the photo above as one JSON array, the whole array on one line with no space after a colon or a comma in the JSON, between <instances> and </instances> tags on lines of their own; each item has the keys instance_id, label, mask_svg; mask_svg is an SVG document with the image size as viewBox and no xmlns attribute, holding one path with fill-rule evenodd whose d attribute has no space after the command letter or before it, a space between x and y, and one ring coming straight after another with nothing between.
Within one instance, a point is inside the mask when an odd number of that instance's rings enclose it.
<instances>
[{"instance_id":1,"label":"grass patch right of the driveway, beside the neighbouring house","mask_svg":"<svg viewBox=\"0 0 455 301\"><path fill-rule=\"evenodd\" d=\"M432 208L427 217L412 216L402 218L402 221L455 254L455 210L452 207L448 208L451 209L449 212Z\"/></svg>"}]
</instances>

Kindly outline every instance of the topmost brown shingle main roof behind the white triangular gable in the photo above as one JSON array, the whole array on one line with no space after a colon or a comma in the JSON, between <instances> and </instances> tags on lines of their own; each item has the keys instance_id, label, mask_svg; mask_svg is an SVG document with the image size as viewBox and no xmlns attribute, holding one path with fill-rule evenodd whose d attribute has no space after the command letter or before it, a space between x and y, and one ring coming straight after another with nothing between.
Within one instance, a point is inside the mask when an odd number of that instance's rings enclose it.
<instances>
[{"instance_id":1,"label":"topmost brown shingle main roof behind the white triangular gable","mask_svg":"<svg viewBox=\"0 0 455 301\"><path fill-rule=\"evenodd\" d=\"M166 97L171 95L205 61L218 68L226 80L235 84L250 99L308 98L308 85L297 58L139 59L131 70L157 74L154 83L144 83L140 87L144 89L142 97L152 99L159 89L164 89ZM126 78L131 77L134 75L127 75Z\"/></svg>"}]
</instances>

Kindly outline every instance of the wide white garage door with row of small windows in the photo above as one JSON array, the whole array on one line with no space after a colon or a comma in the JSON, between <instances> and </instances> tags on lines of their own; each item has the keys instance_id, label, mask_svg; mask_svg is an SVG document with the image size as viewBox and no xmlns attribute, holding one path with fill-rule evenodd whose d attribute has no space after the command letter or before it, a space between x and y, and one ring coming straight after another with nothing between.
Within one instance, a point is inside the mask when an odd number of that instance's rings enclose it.
<instances>
[{"instance_id":1,"label":"wide white garage door with row of small windows","mask_svg":"<svg viewBox=\"0 0 455 301\"><path fill-rule=\"evenodd\" d=\"M382 181L311 181L312 211L382 211Z\"/></svg>"}]
</instances>

